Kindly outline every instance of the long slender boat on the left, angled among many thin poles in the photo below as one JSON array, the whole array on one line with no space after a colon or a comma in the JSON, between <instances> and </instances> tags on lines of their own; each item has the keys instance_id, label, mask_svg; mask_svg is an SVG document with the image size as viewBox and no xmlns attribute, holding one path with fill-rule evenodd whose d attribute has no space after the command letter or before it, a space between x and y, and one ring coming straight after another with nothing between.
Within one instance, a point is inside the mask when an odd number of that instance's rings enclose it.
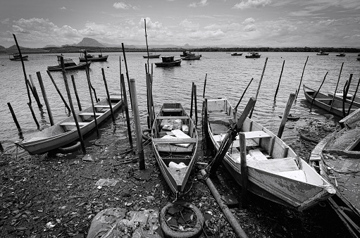
<instances>
[{"instance_id":1,"label":"long slender boat on the left, angled among many thin poles","mask_svg":"<svg viewBox=\"0 0 360 238\"><path fill-rule=\"evenodd\" d=\"M111 95L110 101L113 111L116 111L123 104L120 95ZM102 99L97 102L97 104L94 104L94 108L97 116L97 124L102 123L111 115L108 99ZM87 134L95 128L92 106L76 113L76 117L82 135ZM51 127L47 127L42 131L31 134L21 141L15 142L15 144L30 154L44 154L61 146L66 146L77 139L79 139L79 134L76 130L73 115L71 115Z\"/></svg>"}]
</instances>

